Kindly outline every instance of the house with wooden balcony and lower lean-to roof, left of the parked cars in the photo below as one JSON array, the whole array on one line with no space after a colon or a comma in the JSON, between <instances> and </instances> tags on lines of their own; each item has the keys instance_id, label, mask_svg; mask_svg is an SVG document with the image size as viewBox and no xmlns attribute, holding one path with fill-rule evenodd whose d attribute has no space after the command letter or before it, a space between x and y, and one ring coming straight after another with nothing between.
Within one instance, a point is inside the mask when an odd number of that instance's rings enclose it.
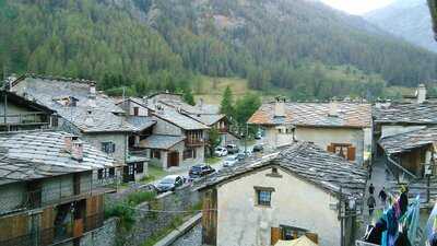
<instances>
[{"instance_id":1,"label":"house with wooden balcony and lower lean-to roof, left of the parked cars","mask_svg":"<svg viewBox=\"0 0 437 246\"><path fill-rule=\"evenodd\" d=\"M144 99L131 97L118 103L130 114L130 122L142 121L150 126L143 137L131 141L138 142L134 149L146 153L163 168L203 163L209 127L189 117L180 107L165 103L174 102L178 94L152 96Z\"/></svg>"}]
</instances>

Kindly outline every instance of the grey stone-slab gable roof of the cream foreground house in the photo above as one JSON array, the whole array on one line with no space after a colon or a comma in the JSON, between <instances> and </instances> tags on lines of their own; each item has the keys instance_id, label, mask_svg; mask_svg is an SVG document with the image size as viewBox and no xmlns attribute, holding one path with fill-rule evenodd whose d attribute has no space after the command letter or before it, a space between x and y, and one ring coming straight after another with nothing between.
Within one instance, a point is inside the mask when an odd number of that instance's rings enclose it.
<instances>
[{"instance_id":1,"label":"grey stone-slab gable roof of the cream foreground house","mask_svg":"<svg viewBox=\"0 0 437 246\"><path fill-rule=\"evenodd\" d=\"M363 167L310 142L296 142L270 156L236 168L223 168L206 180L201 189L270 165L277 165L332 194L339 194L340 187L349 196L363 197L365 192L367 172Z\"/></svg>"}]
</instances>

